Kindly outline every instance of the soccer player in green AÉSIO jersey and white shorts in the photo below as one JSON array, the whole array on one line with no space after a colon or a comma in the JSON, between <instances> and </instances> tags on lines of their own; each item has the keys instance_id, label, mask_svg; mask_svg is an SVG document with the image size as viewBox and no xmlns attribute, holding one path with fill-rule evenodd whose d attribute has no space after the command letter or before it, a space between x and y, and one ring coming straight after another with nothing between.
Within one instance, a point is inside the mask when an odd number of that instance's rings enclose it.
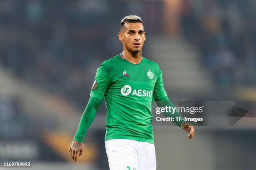
<instances>
[{"instance_id":1,"label":"soccer player in green A\u00c9SIO jersey and white shorts","mask_svg":"<svg viewBox=\"0 0 256 170\"><path fill-rule=\"evenodd\" d=\"M123 18L118 37L123 52L99 65L69 154L74 161L82 155L84 135L105 97L105 148L110 170L156 170L152 102L155 100L160 107L174 105L164 90L159 65L141 55L146 40L141 18ZM175 112L168 116L180 115ZM189 133L188 139L193 138L192 125L184 120L174 123Z\"/></svg>"}]
</instances>

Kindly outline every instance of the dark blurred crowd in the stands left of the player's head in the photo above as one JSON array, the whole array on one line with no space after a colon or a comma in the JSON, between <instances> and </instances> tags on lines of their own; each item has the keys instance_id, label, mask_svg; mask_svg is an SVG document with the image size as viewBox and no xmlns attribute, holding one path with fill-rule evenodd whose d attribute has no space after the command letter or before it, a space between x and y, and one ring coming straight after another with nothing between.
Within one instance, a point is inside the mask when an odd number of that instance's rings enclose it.
<instances>
[{"instance_id":1,"label":"dark blurred crowd in the stands left of the player's head","mask_svg":"<svg viewBox=\"0 0 256 170\"><path fill-rule=\"evenodd\" d=\"M122 50L120 20L129 12L143 16L144 6L133 3L1 0L0 63L21 80L84 107L97 66Z\"/></svg>"}]
</instances>

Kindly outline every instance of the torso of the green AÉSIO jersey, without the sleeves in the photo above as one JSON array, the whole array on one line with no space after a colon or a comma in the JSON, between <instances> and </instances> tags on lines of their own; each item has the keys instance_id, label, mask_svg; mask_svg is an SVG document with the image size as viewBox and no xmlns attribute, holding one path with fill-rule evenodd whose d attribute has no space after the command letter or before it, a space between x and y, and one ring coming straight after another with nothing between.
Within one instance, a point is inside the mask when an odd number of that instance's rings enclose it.
<instances>
[{"instance_id":1,"label":"torso of the green A\u00c9SIO jersey, without the sleeves","mask_svg":"<svg viewBox=\"0 0 256 170\"><path fill-rule=\"evenodd\" d=\"M105 100L106 140L126 138L153 142L151 107L157 67L145 58L133 64L117 56L111 62L112 83Z\"/></svg>"}]
</instances>

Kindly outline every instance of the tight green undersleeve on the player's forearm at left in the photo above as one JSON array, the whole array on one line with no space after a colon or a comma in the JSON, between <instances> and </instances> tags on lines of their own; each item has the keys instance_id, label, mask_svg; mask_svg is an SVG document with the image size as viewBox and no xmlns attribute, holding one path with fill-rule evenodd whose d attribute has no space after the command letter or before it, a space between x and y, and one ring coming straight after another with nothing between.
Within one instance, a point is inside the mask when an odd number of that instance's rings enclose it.
<instances>
[{"instance_id":1,"label":"tight green undersleeve on the player's forearm at left","mask_svg":"<svg viewBox=\"0 0 256 170\"><path fill-rule=\"evenodd\" d=\"M90 97L90 100L82 114L77 133L74 136L74 140L78 142L84 141L84 135L87 132L88 128L92 124L92 121L95 118L97 111L99 110L102 100L95 97Z\"/></svg>"}]
</instances>

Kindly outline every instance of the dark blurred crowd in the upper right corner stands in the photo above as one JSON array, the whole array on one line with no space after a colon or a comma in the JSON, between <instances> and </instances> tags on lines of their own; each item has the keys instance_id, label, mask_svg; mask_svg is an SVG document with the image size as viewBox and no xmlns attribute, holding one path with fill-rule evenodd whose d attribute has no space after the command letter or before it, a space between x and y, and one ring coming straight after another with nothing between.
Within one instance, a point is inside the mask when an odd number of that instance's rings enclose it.
<instances>
[{"instance_id":1,"label":"dark blurred crowd in the upper right corner stands","mask_svg":"<svg viewBox=\"0 0 256 170\"><path fill-rule=\"evenodd\" d=\"M256 1L186 0L184 37L195 44L202 65L221 86L256 84Z\"/></svg>"}]
</instances>

